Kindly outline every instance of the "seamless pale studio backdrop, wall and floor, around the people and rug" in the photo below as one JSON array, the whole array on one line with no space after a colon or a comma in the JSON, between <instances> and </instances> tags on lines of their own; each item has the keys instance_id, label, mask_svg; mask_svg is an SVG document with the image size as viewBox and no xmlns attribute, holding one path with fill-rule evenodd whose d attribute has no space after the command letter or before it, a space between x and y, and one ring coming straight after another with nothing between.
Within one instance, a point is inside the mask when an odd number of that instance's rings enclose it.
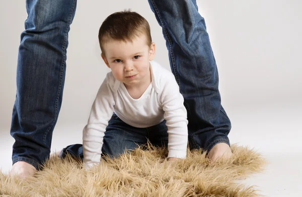
<instances>
[{"instance_id":1,"label":"seamless pale studio backdrop, wall and floor, around the people and rug","mask_svg":"<svg viewBox=\"0 0 302 197\"><path fill-rule=\"evenodd\" d=\"M242 182L268 196L300 196L302 183L302 2L299 0L197 0L205 18L219 73L221 104L232 121L232 144L254 147L268 158L264 173ZM92 103L105 75L98 30L113 12L126 8L150 24L155 60L170 69L168 51L147 1L78 1L70 27L63 103L52 151L82 143ZM20 34L25 1L0 1L0 155L11 169L10 136L16 96Z\"/></svg>"}]
</instances>

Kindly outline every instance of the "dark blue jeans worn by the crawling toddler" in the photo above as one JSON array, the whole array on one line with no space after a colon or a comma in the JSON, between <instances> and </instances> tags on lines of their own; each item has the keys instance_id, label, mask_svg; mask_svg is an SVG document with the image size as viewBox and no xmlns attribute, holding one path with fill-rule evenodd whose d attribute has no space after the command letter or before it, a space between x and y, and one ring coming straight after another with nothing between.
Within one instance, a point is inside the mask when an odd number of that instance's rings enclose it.
<instances>
[{"instance_id":1,"label":"dark blue jeans worn by the crawling toddler","mask_svg":"<svg viewBox=\"0 0 302 197\"><path fill-rule=\"evenodd\" d=\"M167 130L165 120L152 127L136 128L124 123L116 114L113 114L106 128L102 156L117 158L125 150L132 151L139 145L145 145L148 140L155 146L168 147ZM64 158L67 153L84 160L82 144L67 146L61 151L59 157Z\"/></svg>"}]
</instances>

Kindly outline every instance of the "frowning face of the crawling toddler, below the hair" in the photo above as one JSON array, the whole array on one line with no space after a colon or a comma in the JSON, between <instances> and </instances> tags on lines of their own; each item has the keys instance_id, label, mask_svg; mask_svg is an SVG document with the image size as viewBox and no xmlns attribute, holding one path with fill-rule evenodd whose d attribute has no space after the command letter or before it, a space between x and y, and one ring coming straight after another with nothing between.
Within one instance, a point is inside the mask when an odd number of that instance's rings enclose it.
<instances>
[{"instance_id":1,"label":"frowning face of the crawling toddler, below the hair","mask_svg":"<svg viewBox=\"0 0 302 197\"><path fill-rule=\"evenodd\" d=\"M155 56L155 44L147 45L146 36L130 41L110 40L104 44L102 58L113 76L128 86L139 86L150 80L149 60Z\"/></svg>"}]
</instances>

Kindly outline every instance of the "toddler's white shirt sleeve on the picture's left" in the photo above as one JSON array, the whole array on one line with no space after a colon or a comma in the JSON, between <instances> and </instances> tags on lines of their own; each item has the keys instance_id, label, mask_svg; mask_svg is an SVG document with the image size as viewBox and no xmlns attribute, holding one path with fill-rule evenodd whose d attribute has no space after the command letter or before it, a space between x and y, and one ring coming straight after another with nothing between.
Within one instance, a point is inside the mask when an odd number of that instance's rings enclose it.
<instances>
[{"instance_id":1,"label":"toddler's white shirt sleeve on the picture's left","mask_svg":"<svg viewBox=\"0 0 302 197\"><path fill-rule=\"evenodd\" d=\"M100 163L103 137L114 112L113 90L108 81L107 75L92 105L88 124L83 129L83 154L86 169Z\"/></svg>"}]
</instances>

